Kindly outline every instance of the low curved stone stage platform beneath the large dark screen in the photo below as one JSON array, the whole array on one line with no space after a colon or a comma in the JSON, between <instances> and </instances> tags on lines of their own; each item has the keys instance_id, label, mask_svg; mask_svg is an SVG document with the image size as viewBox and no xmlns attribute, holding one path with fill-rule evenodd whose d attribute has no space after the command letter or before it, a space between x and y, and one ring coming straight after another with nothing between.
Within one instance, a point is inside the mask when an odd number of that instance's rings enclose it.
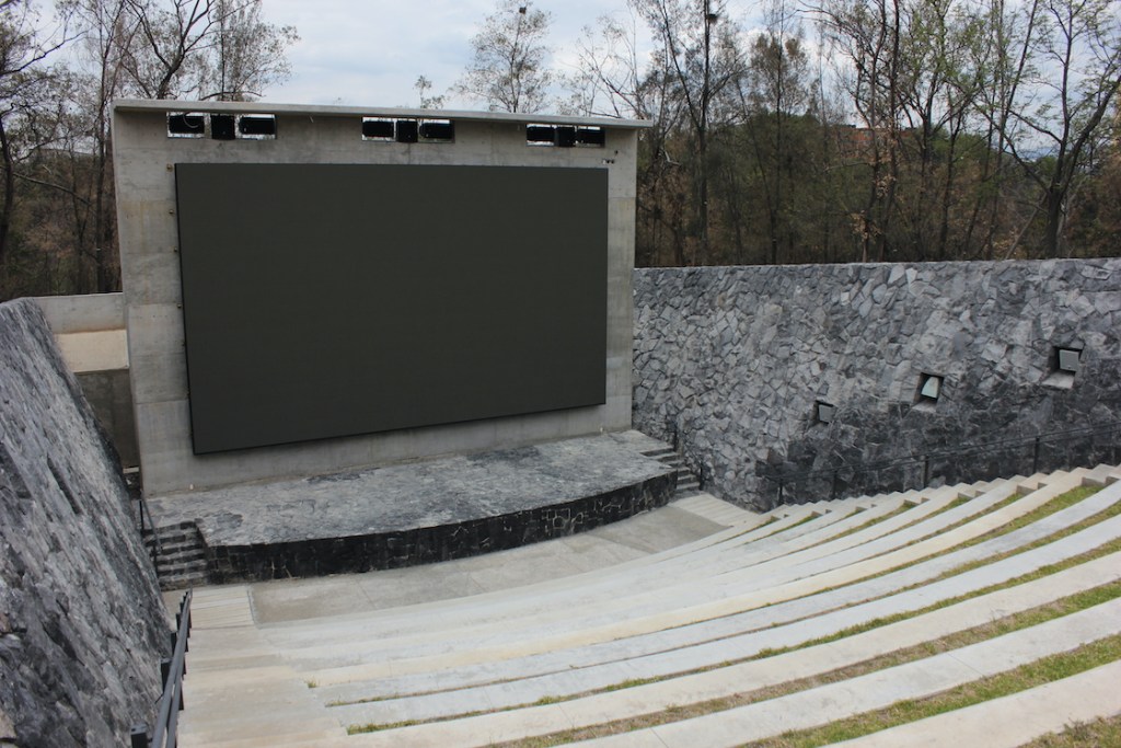
<instances>
[{"instance_id":1,"label":"low curved stone stage platform beneath the large dark screen","mask_svg":"<svg viewBox=\"0 0 1121 748\"><path fill-rule=\"evenodd\" d=\"M664 506L675 469L639 432L148 498L197 527L206 581L317 576L461 558ZM172 529L170 532L175 532Z\"/></svg>"}]
</instances>

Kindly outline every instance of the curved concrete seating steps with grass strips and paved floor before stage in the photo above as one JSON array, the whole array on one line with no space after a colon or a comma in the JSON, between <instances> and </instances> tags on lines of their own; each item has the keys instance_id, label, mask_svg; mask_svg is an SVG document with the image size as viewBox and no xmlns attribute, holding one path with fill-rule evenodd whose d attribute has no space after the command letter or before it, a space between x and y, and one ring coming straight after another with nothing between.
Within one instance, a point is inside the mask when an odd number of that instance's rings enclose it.
<instances>
[{"instance_id":1,"label":"curved concrete seating steps with grass strips and paved floor before stage","mask_svg":"<svg viewBox=\"0 0 1121 748\"><path fill-rule=\"evenodd\" d=\"M183 745L1030 744L1121 711L1119 480L696 493L438 571L204 588Z\"/></svg>"}]
</instances>

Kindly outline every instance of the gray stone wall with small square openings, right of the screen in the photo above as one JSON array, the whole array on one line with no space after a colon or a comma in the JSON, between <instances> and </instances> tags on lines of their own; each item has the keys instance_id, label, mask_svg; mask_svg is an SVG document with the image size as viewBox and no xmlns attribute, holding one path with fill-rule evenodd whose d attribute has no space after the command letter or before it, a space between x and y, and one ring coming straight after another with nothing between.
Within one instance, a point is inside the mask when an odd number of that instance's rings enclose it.
<instances>
[{"instance_id":1,"label":"gray stone wall with small square openings, right of the screen","mask_svg":"<svg viewBox=\"0 0 1121 748\"><path fill-rule=\"evenodd\" d=\"M795 501L914 486L921 463L851 467L1121 417L1119 259L645 269L634 298L634 427L676 438L705 487L741 504L769 505L778 472L840 467L788 483ZM1082 350L1077 373L1054 372L1057 348ZM936 403L918 397L924 375L943 378ZM1109 440L1044 438L1039 465L1115 458ZM928 470L1022 473L1032 450Z\"/></svg>"}]
</instances>

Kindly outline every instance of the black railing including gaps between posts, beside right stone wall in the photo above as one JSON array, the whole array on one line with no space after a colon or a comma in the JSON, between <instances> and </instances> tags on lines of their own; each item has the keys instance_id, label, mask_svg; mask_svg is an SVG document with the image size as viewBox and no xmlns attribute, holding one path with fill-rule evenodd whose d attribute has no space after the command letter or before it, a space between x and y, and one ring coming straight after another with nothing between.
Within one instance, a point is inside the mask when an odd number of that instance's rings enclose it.
<instances>
[{"instance_id":1,"label":"black railing including gaps between posts, beside right stone wall","mask_svg":"<svg viewBox=\"0 0 1121 748\"><path fill-rule=\"evenodd\" d=\"M1114 438L1099 440L1110 435ZM1027 474L1059 470L1087 461L1121 461L1121 421L1049 434L1020 436L952 450L888 460L841 463L796 472L781 469L761 474L773 484L771 507L837 499L861 493L924 489L932 480L989 480L1027 470ZM1104 442L1073 449L1084 441ZM1062 449L1056 450L1056 446Z\"/></svg>"}]
</instances>

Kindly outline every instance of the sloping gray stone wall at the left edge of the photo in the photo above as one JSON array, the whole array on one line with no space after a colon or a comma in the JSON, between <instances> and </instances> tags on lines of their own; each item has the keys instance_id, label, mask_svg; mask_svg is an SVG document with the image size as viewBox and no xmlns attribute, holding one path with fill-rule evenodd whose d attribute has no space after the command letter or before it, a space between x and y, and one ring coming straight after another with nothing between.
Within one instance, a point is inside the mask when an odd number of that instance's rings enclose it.
<instances>
[{"instance_id":1,"label":"sloping gray stone wall at the left edge of the photo","mask_svg":"<svg viewBox=\"0 0 1121 748\"><path fill-rule=\"evenodd\" d=\"M0 715L16 745L126 745L151 719L167 632L115 454L39 307L0 305Z\"/></svg>"}]
</instances>

